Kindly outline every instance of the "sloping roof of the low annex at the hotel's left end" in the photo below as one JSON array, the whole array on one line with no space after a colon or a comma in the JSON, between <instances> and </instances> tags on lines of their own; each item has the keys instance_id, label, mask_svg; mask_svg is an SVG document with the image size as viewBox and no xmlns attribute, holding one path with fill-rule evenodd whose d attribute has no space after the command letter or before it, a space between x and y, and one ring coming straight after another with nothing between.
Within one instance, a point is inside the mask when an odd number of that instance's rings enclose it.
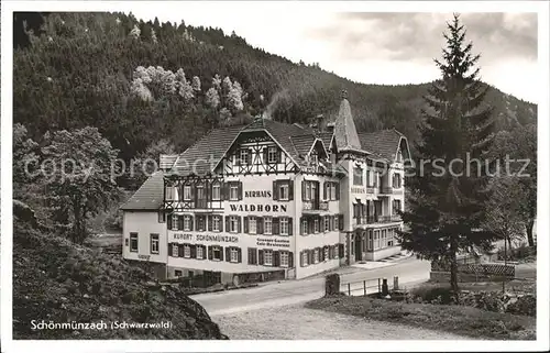
<instances>
[{"instance_id":1,"label":"sloping roof of the low annex at the hotel's left end","mask_svg":"<svg viewBox=\"0 0 550 353\"><path fill-rule=\"evenodd\" d=\"M135 191L120 209L122 210L157 210L163 206L164 178L163 172L155 172Z\"/></svg>"}]
</instances>

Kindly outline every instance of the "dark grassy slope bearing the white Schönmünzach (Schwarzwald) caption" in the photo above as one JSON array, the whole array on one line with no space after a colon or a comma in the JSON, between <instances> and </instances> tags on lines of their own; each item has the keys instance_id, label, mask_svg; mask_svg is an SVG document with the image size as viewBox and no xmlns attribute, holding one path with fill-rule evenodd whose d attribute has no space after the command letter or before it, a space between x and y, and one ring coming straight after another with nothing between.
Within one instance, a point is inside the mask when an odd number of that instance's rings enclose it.
<instances>
[{"instance_id":1,"label":"dark grassy slope bearing the white Sch\u00f6nm\u00fcnzach (Schwarzwald) caption","mask_svg":"<svg viewBox=\"0 0 550 353\"><path fill-rule=\"evenodd\" d=\"M15 221L15 223L18 223ZM223 339L205 309L178 288L155 285L114 255L18 225L13 236L14 339ZM168 330L31 330L54 322L172 321Z\"/></svg>"}]
</instances>

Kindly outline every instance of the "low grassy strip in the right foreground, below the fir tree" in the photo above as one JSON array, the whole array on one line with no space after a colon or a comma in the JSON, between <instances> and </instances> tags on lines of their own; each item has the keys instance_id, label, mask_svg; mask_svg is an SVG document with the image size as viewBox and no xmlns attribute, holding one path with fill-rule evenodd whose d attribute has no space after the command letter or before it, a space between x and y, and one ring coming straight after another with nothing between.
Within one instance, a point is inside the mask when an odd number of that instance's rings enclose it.
<instances>
[{"instance_id":1,"label":"low grassy strip in the right foreground, below the fir tree","mask_svg":"<svg viewBox=\"0 0 550 353\"><path fill-rule=\"evenodd\" d=\"M329 297L312 300L306 307L476 339L536 339L536 318L463 306L405 304L369 297Z\"/></svg>"}]
</instances>

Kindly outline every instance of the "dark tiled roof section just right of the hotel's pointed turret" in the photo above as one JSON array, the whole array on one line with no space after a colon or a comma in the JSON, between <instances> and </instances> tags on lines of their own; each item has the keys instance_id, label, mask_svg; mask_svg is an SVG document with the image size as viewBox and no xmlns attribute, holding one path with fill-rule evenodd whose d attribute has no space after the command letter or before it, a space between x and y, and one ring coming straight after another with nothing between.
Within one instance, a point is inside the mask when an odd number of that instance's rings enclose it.
<instances>
[{"instance_id":1,"label":"dark tiled roof section just right of the hotel's pointed turret","mask_svg":"<svg viewBox=\"0 0 550 353\"><path fill-rule=\"evenodd\" d=\"M374 156L394 162L404 134L395 129L382 130L359 134L363 150L371 152Z\"/></svg>"}]
</instances>

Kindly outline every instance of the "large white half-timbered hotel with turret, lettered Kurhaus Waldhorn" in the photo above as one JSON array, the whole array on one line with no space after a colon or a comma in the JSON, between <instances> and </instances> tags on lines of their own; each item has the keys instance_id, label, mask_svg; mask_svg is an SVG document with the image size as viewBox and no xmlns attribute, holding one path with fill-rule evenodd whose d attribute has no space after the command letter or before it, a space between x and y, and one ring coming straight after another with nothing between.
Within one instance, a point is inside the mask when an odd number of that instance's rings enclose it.
<instances>
[{"instance_id":1,"label":"large white half-timbered hotel with turret, lettered Kurhaus Waldhorn","mask_svg":"<svg viewBox=\"0 0 550 353\"><path fill-rule=\"evenodd\" d=\"M358 134L345 98L330 123L212 130L122 206L123 257L237 284L395 255L408 156L396 130Z\"/></svg>"}]
</instances>

